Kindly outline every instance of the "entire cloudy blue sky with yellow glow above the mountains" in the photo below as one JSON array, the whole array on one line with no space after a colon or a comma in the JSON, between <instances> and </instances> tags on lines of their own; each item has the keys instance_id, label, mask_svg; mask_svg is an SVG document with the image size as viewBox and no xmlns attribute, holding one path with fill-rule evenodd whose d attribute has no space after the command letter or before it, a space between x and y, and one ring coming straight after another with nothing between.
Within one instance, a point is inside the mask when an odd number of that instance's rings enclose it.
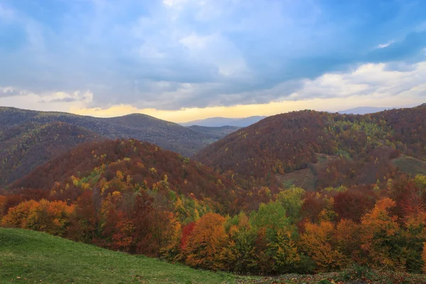
<instances>
[{"instance_id":1,"label":"entire cloudy blue sky with yellow glow above the mountains","mask_svg":"<svg viewBox=\"0 0 426 284\"><path fill-rule=\"evenodd\" d=\"M0 105L185 122L426 102L423 0L0 0Z\"/></svg>"}]
</instances>

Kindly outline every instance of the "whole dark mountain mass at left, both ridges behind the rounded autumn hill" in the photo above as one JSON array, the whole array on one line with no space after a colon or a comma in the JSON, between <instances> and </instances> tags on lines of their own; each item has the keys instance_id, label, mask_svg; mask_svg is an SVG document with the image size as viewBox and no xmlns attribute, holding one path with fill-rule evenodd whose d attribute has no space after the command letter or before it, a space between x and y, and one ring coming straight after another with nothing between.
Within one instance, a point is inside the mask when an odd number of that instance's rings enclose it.
<instances>
[{"instance_id":1,"label":"whole dark mountain mass at left, both ridges behind the rounded autumn hill","mask_svg":"<svg viewBox=\"0 0 426 284\"><path fill-rule=\"evenodd\" d=\"M113 118L0 107L0 185L78 143L136 138L190 156L236 128L187 128L144 114Z\"/></svg>"}]
</instances>

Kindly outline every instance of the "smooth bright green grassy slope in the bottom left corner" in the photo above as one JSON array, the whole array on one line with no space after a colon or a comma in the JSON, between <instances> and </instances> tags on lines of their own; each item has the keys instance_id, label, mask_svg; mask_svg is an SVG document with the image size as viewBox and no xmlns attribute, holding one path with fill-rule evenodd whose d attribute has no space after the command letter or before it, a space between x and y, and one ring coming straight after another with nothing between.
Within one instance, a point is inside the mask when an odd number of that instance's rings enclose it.
<instances>
[{"instance_id":1,"label":"smooth bright green grassy slope in the bottom left corner","mask_svg":"<svg viewBox=\"0 0 426 284\"><path fill-rule=\"evenodd\" d=\"M19 278L18 278L19 277ZM37 231L0 228L0 283L234 283L197 271Z\"/></svg>"}]
</instances>

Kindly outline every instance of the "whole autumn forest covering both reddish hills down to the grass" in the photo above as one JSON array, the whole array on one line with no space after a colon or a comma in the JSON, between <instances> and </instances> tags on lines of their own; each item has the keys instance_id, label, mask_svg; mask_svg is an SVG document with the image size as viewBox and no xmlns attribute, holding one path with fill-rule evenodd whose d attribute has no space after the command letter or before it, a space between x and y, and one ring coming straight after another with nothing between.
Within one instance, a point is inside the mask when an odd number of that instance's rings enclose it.
<instances>
[{"instance_id":1,"label":"whole autumn forest covering both reddish hills down to the grass","mask_svg":"<svg viewBox=\"0 0 426 284\"><path fill-rule=\"evenodd\" d=\"M280 114L192 158L136 139L82 143L0 191L1 226L212 271L426 273L426 173L395 163L422 167L425 117ZM315 190L280 183L306 169Z\"/></svg>"}]
</instances>

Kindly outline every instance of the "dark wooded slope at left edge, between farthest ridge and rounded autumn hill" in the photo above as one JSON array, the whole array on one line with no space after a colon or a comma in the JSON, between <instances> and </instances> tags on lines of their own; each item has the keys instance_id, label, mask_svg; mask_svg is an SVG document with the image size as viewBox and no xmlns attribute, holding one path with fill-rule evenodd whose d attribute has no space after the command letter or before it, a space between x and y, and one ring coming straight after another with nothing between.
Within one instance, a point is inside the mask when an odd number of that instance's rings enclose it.
<instances>
[{"instance_id":1,"label":"dark wooded slope at left edge, between farthest ridge and rounded autumn hill","mask_svg":"<svg viewBox=\"0 0 426 284\"><path fill-rule=\"evenodd\" d=\"M55 155L104 137L64 122L24 123L0 131L0 185L21 178Z\"/></svg>"}]
</instances>

